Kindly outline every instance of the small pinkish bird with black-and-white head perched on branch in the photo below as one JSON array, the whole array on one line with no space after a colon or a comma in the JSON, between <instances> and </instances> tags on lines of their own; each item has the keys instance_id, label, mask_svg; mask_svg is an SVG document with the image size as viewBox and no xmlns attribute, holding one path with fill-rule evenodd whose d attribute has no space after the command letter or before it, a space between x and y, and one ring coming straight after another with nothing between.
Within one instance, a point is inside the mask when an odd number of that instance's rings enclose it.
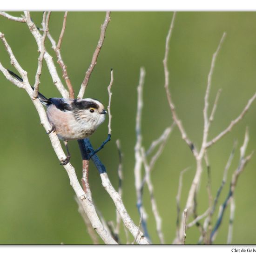
<instances>
[{"instance_id":1,"label":"small pinkish bird with black-and-white head perched on branch","mask_svg":"<svg viewBox=\"0 0 256 256\"><path fill-rule=\"evenodd\" d=\"M8 72L23 82L17 74L10 70ZM38 93L38 98L47 107L47 118L52 125L48 134L56 132L59 139L64 141L66 148L68 141L82 140L92 135L108 113L103 104L96 99L48 99L41 93ZM67 158L62 161L62 165L66 165L69 159L70 153L67 148Z\"/></svg>"}]
</instances>

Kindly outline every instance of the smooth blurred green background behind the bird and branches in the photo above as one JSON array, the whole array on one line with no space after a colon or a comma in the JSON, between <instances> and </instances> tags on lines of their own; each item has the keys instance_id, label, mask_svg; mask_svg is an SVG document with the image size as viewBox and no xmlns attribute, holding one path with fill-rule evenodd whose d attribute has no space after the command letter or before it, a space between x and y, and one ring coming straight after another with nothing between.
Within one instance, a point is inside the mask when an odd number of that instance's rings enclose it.
<instances>
[{"instance_id":1,"label":"smooth blurred green background behind the bird and branches","mask_svg":"<svg viewBox=\"0 0 256 256\"><path fill-rule=\"evenodd\" d=\"M19 16L21 13L10 13ZM55 40L61 32L64 12L53 12L49 31ZM117 189L118 153L115 145L121 140L123 159L123 202L136 224L140 218L136 209L134 186L135 114L139 70L146 69L144 108L142 113L143 145L148 148L162 131L172 123L166 99L162 60L165 39L173 13L171 12L113 12L106 39L97 65L91 75L86 97L97 98L108 105L107 86L110 68L114 69L112 97L112 140L98 155L106 165L109 178ZM32 12L32 19L40 26L42 12ZM99 39L103 12L70 12L61 54L69 77L78 93L92 54ZM34 84L39 56L33 36L26 24L0 16L0 31L13 49L17 60L27 70ZM173 101L189 138L199 147L202 142L202 108L212 54L216 51L223 32L227 37L216 61L210 92L210 107L216 92L222 88L215 121L209 139L221 132L240 114L248 99L255 93L256 84L256 13L181 12L177 13L171 38L169 69ZM47 41L47 50L55 54ZM13 71L8 55L0 43L0 61ZM56 63L56 66L58 64ZM61 76L61 70L58 67ZM26 92L0 74L0 243L1 244L90 244L91 239L77 211L74 191L64 168L54 154L45 130ZM40 92L48 97L59 97L50 75L43 64ZM229 189L232 173L239 161L239 147L243 143L246 126L250 141L247 154L256 145L256 103L231 133L209 149L212 193L222 182L225 164L233 142L238 148L220 202ZM108 121L91 137L94 147L106 138ZM81 178L81 156L76 141L69 143L71 163ZM152 172L155 198L162 216L166 243L175 237L176 205L180 171L190 167L184 175L181 206L185 205L189 187L195 174L195 159L181 139L177 128L168 139L166 148ZM239 177L236 191L236 212L232 243L256 243L256 156L254 155ZM89 182L97 208L107 221L115 221L115 207L101 186L101 179L90 166ZM208 207L207 172L202 174L198 194L198 213ZM153 243L159 243L155 219L151 212L148 189L144 191L144 206L148 212L148 229ZM217 210L218 211L218 210ZM216 221L216 214L214 216ZM227 241L229 208L225 212L215 243ZM125 235L121 229L121 239ZM186 243L195 244L200 236L193 227L187 231ZM130 242L133 238L129 237Z\"/></svg>"}]
</instances>

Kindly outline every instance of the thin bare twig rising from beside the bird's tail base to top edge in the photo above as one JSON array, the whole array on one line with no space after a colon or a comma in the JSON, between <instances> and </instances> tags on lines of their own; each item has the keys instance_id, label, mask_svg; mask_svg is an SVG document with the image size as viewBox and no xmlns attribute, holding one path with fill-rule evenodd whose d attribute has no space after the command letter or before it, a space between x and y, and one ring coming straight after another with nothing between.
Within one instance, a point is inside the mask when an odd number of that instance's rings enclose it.
<instances>
[{"instance_id":1,"label":"thin bare twig rising from beside the bird's tail base to top edge","mask_svg":"<svg viewBox=\"0 0 256 256\"><path fill-rule=\"evenodd\" d=\"M37 64L37 71L36 71L36 75L35 75L35 83L34 83L34 98L37 98L38 96L38 88L40 85L40 75L41 75L41 71L42 71L42 64L43 64L43 58L44 58L44 54L45 54L45 39L48 33L48 25L49 25L49 20L50 20L50 15L51 12L47 13L46 16L46 12L44 12L43 14L43 28L44 28L44 32L41 38L41 47L38 49L40 51L40 55L38 58L38 64Z\"/></svg>"}]
</instances>

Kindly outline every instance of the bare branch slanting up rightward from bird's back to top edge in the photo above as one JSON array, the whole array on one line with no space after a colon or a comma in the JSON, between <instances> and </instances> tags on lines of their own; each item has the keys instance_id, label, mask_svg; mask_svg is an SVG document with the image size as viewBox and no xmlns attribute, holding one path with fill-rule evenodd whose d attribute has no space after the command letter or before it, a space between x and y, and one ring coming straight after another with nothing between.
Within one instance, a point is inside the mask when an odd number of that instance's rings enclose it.
<instances>
[{"instance_id":1,"label":"bare branch slanting up rightward from bird's back to top edge","mask_svg":"<svg viewBox=\"0 0 256 256\"><path fill-rule=\"evenodd\" d=\"M104 23L101 25L100 40L98 41L98 45L97 45L97 47L96 47L96 49L94 51L91 64L90 64L88 70L85 73L85 78L84 78L84 80L83 80L83 82L81 84L81 88L80 88L79 94L77 96L78 99L81 99L83 97L84 92L85 92L85 90L86 90L86 88L88 86L88 81L89 81L90 75L92 74L93 69L96 66L97 58L98 58L98 55L100 54L101 47L102 47L104 39L105 39L106 29L108 27L108 22L109 21L110 21L110 12L107 12L105 20L104 20Z\"/></svg>"}]
</instances>

